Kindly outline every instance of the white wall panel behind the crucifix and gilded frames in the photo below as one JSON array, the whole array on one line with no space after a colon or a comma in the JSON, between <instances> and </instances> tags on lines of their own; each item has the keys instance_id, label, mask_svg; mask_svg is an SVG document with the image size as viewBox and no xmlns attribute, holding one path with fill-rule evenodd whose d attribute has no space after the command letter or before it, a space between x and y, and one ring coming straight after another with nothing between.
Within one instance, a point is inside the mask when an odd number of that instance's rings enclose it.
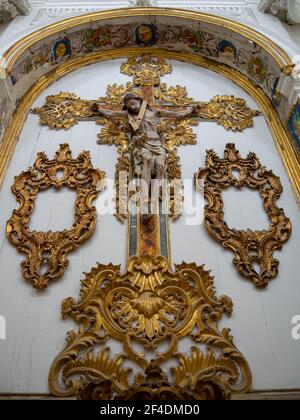
<instances>
[{"instance_id":1,"label":"white wall panel behind the crucifix and gilded frames","mask_svg":"<svg viewBox=\"0 0 300 420\"><path fill-rule=\"evenodd\" d=\"M129 80L119 73L121 63L122 60L116 60L78 70L54 83L35 106L41 105L46 95L60 91L72 91L85 98L102 96L108 83ZM255 107L251 98L232 82L196 66L172 64L173 73L163 81L186 85L195 99L234 94L246 98L249 105ZM0 314L7 320L7 340L0 340L0 392L48 392L50 365L64 346L66 332L74 327L71 321L61 321L61 301L68 296L78 297L81 273L88 272L97 261L124 266L126 226L120 225L113 216L98 220L93 237L70 254L70 266L64 277L42 292L36 292L23 280L19 266L23 255L5 238L6 221L16 206L10 192L13 177L34 162L38 151L45 150L52 157L60 143L68 142L73 156L83 149L90 150L94 165L113 177L116 151L113 147L96 144L99 129L93 122L83 122L70 131L54 132L41 128L37 116L30 115L20 137L0 192ZM236 345L247 357L255 389L300 388L300 341L293 341L291 337L291 318L300 314L299 212L267 125L263 117L259 117L255 128L242 134L226 132L214 123L201 123L195 130L198 144L180 149L184 177L192 178L203 165L208 148L222 154L227 142L235 142L243 155L250 150L256 152L261 161L281 177L284 193L280 205L292 220L293 235L283 251L277 253L280 274L265 291L256 290L242 279L232 264L232 253L210 239L204 226L186 226L185 217L171 225L173 262L205 263L216 277L217 294L227 294L233 299L233 316L223 325L232 329ZM44 193L38 200L33 224L44 229L68 227L72 222L71 197L59 193L53 200L53 194ZM254 193L229 191L225 205L230 225L252 229L267 226L262 204Z\"/></svg>"}]
</instances>

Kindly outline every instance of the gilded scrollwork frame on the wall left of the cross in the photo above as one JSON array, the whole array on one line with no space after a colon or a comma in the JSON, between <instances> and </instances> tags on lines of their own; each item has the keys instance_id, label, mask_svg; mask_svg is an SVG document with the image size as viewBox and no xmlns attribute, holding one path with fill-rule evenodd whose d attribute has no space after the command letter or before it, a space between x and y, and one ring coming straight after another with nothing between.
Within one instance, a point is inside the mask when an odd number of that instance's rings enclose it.
<instances>
[{"instance_id":1,"label":"gilded scrollwork frame on the wall left of the cross","mask_svg":"<svg viewBox=\"0 0 300 420\"><path fill-rule=\"evenodd\" d=\"M83 151L74 159L67 144L60 145L54 159L48 159L44 152L38 153L33 167L15 177L12 191L20 207L7 222L6 234L18 251L26 254L22 273L34 288L45 288L49 281L62 277L68 265L68 253L94 232L97 216L92 202L104 188L104 177L104 172L93 168L89 152ZM31 231L30 217L37 194L63 187L76 191L72 227L61 232Z\"/></svg>"}]
</instances>

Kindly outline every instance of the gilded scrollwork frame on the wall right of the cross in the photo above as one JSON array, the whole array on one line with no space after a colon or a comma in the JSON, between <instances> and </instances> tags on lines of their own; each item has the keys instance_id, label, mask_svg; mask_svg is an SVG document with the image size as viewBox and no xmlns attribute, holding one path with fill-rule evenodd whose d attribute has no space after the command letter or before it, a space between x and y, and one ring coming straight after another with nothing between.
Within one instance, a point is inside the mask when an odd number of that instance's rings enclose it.
<instances>
[{"instance_id":1,"label":"gilded scrollwork frame on the wall right of the cross","mask_svg":"<svg viewBox=\"0 0 300 420\"><path fill-rule=\"evenodd\" d=\"M234 171L239 172L239 178ZM278 274L279 261L273 253L282 248L292 231L291 222L284 210L277 206L282 192L279 177L261 166L252 152L242 158L234 144L227 144L224 158L213 150L207 151L206 166L195 175L196 186L204 181L205 226L210 236L225 248L231 249L233 263L239 273L258 288L264 288ZM268 230L237 230L224 220L222 190L229 187L248 187L257 190L270 219ZM255 269L258 264L260 271Z\"/></svg>"}]
</instances>

